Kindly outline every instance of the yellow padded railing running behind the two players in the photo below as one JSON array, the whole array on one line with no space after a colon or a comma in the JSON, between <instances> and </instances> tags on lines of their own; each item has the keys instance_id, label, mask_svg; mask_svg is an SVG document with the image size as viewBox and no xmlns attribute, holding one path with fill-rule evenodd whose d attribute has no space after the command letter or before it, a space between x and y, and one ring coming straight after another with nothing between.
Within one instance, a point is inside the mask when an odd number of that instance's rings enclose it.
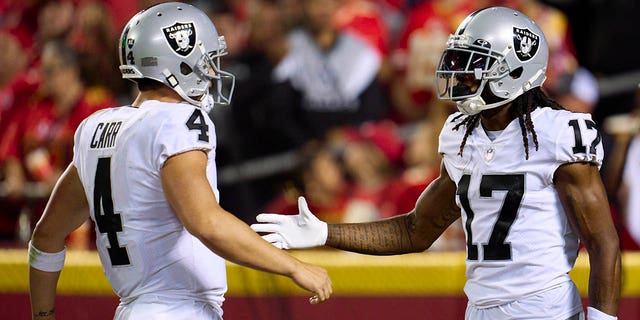
<instances>
[{"instance_id":1,"label":"yellow padded railing running behind the two players","mask_svg":"<svg viewBox=\"0 0 640 320\"><path fill-rule=\"evenodd\" d=\"M343 296L463 295L464 252L425 252L375 257L334 250L291 251L321 265L331 275L334 294ZM640 297L640 252L625 252L623 297ZM585 295L588 257L581 253L570 273ZM306 294L289 279L227 264L229 296ZM0 293L28 291L27 252L0 249ZM113 295L94 251L69 251L58 292L66 295Z\"/></svg>"}]
</instances>

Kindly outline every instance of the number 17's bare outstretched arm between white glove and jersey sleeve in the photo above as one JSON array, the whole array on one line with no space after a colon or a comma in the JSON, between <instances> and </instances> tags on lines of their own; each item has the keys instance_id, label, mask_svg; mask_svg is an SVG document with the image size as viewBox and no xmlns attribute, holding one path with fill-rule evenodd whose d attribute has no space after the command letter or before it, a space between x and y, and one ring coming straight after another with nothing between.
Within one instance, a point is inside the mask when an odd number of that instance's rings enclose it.
<instances>
[{"instance_id":1,"label":"number 17's bare outstretched arm between white glove and jersey sleeve","mask_svg":"<svg viewBox=\"0 0 640 320\"><path fill-rule=\"evenodd\" d=\"M422 192L413 211L375 222L329 224L326 245L376 255L422 252L460 217L455 194L456 185L441 165L440 176Z\"/></svg>"}]
</instances>

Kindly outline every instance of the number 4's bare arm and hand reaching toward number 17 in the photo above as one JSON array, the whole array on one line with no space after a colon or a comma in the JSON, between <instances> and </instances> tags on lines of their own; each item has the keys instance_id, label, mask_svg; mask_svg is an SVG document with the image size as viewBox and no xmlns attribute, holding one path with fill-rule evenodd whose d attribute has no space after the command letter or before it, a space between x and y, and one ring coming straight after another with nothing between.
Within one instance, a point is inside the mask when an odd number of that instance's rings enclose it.
<instances>
[{"instance_id":1,"label":"number 4's bare arm and hand reaching toward number 17","mask_svg":"<svg viewBox=\"0 0 640 320\"><path fill-rule=\"evenodd\" d=\"M207 180L206 165L207 155L195 150L169 158L162 168L165 195L185 228L229 261L292 278L317 295L312 303L328 299L331 281L323 268L278 250L218 205Z\"/></svg>"}]
</instances>

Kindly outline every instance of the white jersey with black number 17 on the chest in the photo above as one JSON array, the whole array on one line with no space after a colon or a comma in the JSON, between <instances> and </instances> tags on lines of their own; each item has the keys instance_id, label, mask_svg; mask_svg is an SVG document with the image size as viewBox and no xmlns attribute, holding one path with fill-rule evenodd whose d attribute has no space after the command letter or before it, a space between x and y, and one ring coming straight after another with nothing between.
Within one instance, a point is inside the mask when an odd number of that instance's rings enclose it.
<instances>
[{"instance_id":1,"label":"white jersey with black number 17 on the chest","mask_svg":"<svg viewBox=\"0 0 640 320\"><path fill-rule=\"evenodd\" d=\"M570 281L578 254L553 183L559 166L592 162L600 167L602 143L589 114L537 108L531 114L539 149L531 134L529 159L518 119L492 141L476 127L462 156L464 119L451 115L440 133L439 152L457 185L467 239L465 293L479 307L492 307Z\"/></svg>"}]
</instances>

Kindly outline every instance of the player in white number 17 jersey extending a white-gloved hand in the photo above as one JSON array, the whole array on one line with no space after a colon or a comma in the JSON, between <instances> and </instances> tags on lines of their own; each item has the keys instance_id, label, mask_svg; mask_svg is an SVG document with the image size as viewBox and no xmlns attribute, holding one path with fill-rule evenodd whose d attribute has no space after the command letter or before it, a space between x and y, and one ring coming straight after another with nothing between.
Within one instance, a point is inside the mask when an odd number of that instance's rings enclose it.
<instances>
[{"instance_id":1,"label":"player in white number 17 jersey extending a white-gloved hand","mask_svg":"<svg viewBox=\"0 0 640 320\"><path fill-rule=\"evenodd\" d=\"M405 215L329 224L299 199L299 215L261 214L258 232L280 248L327 245L365 254L422 252L462 216L465 319L584 319L568 272L589 253L588 318L616 319L620 251L599 175L603 148L589 114L540 89L548 48L522 13L490 7L449 37L436 71L453 100L439 138L440 176ZM428 284L425 284L428 285Z\"/></svg>"}]
</instances>

